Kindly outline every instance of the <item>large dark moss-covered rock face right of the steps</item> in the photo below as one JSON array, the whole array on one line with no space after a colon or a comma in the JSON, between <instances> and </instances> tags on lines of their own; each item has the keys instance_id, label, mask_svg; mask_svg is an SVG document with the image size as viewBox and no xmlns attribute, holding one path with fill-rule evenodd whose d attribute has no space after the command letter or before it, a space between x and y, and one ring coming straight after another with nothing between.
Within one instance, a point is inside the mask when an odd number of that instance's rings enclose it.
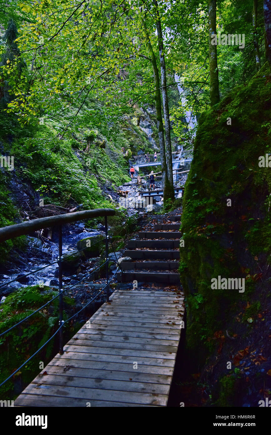
<instances>
[{"instance_id":1,"label":"large dark moss-covered rock face right of the steps","mask_svg":"<svg viewBox=\"0 0 271 435\"><path fill-rule=\"evenodd\" d=\"M209 355L215 331L231 321L236 304L248 294L256 298L254 256L270 254L271 169L259 167L259 157L271 153L270 95L265 65L198 122L183 197L179 269L187 345L197 355ZM212 289L211 279L219 275L244 278L245 292Z\"/></svg>"}]
</instances>

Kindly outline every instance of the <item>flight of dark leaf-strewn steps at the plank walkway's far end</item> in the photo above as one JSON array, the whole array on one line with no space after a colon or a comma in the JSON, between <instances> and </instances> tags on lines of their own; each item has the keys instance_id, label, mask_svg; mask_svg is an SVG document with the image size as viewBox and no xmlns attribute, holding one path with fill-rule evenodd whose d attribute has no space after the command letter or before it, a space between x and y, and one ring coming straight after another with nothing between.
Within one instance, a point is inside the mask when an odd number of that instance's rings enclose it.
<instances>
[{"instance_id":1,"label":"flight of dark leaf-strewn steps at the plank walkway's far end","mask_svg":"<svg viewBox=\"0 0 271 435\"><path fill-rule=\"evenodd\" d=\"M170 216L172 224L155 224L154 231L140 231L137 238L126 246L121 271L117 273L119 282L152 282L158 284L180 284L179 228L181 216Z\"/></svg>"}]
</instances>

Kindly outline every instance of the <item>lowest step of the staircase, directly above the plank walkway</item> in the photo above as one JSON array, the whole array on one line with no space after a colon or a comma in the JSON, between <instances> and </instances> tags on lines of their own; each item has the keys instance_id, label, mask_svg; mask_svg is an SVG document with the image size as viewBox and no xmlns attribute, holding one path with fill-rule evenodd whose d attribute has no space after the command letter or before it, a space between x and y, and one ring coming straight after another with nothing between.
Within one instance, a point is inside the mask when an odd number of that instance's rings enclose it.
<instances>
[{"instance_id":1,"label":"lowest step of the staircase, directly above the plank walkway","mask_svg":"<svg viewBox=\"0 0 271 435\"><path fill-rule=\"evenodd\" d=\"M159 273L159 272L118 272L118 282L158 282L166 284L180 284L178 273Z\"/></svg>"}]
</instances>

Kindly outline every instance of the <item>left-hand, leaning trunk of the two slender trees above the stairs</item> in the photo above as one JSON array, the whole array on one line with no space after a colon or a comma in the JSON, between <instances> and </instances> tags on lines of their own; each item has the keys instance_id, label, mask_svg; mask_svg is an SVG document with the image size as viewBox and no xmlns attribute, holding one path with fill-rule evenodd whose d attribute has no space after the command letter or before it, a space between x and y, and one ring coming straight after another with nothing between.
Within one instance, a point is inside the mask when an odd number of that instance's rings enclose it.
<instances>
[{"instance_id":1,"label":"left-hand, leaning trunk of the two slender trees above the stairs","mask_svg":"<svg viewBox=\"0 0 271 435\"><path fill-rule=\"evenodd\" d=\"M152 48L151 41L149 39L149 33L146 28L146 23L143 18L143 27L145 30L146 42L148 44L149 54L152 60L152 69L154 75L155 82L155 108L156 108L156 119L157 119L157 130L159 137L159 147L160 147L160 158L161 158L161 167L162 167L162 187L164 191L164 201L169 199L167 197L166 186L169 184L168 173L167 173L167 165L166 165L166 157L165 157L165 137L164 137L164 126L163 126L163 118L162 118L162 105L161 105L161 92L160 92L160 77L159 70L157 67L156 57Z\"/></svg>"}]
</instances>

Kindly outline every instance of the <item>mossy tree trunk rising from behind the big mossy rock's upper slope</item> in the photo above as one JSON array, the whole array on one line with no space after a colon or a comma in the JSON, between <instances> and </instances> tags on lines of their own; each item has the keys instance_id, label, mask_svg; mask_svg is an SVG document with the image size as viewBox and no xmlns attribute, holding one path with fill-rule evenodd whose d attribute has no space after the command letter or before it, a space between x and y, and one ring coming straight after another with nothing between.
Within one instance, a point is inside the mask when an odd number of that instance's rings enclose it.
<instances>
[{"instance_id":1,"label":"mossy tree trunk rising from behind the big mossy rock's upper slope","mask_svg":"<svg viewBox=\"0 0 271 435\"><path fill-rule=\"evenodd\" d=\"M219 103L219 81L217 65L217 45L212 35L216 35L216 0L209 0L209 64L210 64L210 99L211 106ZM212 44L213 42L213 44ZM216 39L217 43L217 39Z\"/></svg>"}]
</instances>

